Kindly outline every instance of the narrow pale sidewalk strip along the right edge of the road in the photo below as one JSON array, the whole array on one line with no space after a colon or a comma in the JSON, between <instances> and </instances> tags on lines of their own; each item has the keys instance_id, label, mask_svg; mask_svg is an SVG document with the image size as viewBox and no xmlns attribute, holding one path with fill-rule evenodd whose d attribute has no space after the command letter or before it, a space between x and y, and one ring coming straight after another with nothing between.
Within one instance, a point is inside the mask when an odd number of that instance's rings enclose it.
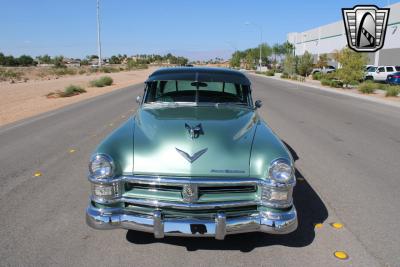
<instances>
[{"instance_id":1,"label":"narrow pale sidewalk strip along the right edge of the road","mask_svg":"<svg viewBox=\"0 0 400 267\"><path fill-rule=\"evenodd\" d=\"M375 103L381 103L384 105L392 106L392 107L398 107L400 108L400 97L385 97L385 94L383 92L380 92L382 90L377 90L374 94L362 94L360 93L357 89L342 89L342 88L333 88L333 87L328 87L328 86L322 86L319 81L315 80L306 80L305 82L299 82L299 81L293 81L289 79L282 79L278 76L266 76L263 74L256 74L256 73L249 73L250 75L255 75L259 77L264 77L266 79L273 79L277 81L283 81L287 83L292 83L296 84L298 86L304 86L308 88L314 88L318 89L321 91L327 91L331 93L336 93L336 94L341 94L341 95L347 95Z\"/></svg>"}]
</instances>

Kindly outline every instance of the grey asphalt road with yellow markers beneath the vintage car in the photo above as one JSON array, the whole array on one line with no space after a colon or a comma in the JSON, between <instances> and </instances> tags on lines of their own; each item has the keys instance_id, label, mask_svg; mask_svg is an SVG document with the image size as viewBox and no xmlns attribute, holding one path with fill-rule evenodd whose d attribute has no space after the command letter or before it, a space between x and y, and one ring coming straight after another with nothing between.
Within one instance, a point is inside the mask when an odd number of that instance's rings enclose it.
<instances>
[{"instance_id":1,"label":"grey asphalt road with yellow markers beneath the vintage car","mask_svg":"<svg viewBox=\"0 0 400 267\"><path fill-rule=\"evenodd\" d=\"M88 158L133 114L137 85L0 128L0 265L399 266L400 109L251 80L260 114L297 159L298 231L155 240L86 226Z\"/></svg>"}]
</instances>

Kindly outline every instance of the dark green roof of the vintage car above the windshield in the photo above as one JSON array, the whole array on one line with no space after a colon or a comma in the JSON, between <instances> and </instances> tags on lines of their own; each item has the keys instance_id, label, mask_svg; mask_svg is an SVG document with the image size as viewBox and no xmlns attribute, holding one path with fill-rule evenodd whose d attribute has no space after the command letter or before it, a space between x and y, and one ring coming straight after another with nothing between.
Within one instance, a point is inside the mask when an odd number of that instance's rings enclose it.
<instances>
[{"instance_id":1,"label":"dark green roof of the vintage car above the windshield","mask_svg":"<svg viewBox=\"0 0 400 267\"><path fill-rule=\"evenodd\" d=\"M250 85L250 80L242 72L227 68L208 67L171 67L160 68L153 72L147 82L152 81L199 81L199 82L227 82L241 85Z\"/></svg>"}]
</instances>

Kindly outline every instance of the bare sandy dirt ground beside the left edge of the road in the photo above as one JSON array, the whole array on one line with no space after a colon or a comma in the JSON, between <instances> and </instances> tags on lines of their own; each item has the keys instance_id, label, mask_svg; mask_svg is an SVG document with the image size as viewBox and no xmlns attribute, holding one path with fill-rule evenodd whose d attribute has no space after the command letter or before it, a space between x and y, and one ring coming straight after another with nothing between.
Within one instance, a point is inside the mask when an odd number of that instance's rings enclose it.
<instances>
[{"instance_id":1,"label":"bare sandy dirt ground beside the left edge of the road","mask_svg":"<svg viewBox=\"0 0 400 267\"><path fill-rule=\"evenodd\" d=\"M99 73L75 75L52 80L29 80L27 82L0 83L0 126L25 119L40 113L54 110L97 95L105 94L132 84L143 83L155 70L125 71L118 73ZM114 83L107 87L90 87L89 82L101 76L110 76ZM64 90L68 85L79 85L87 93L65 98L47 98L46 95L56 90ZM134 99L134 96L132 97Z\"/></svg>"}]
</instances>

